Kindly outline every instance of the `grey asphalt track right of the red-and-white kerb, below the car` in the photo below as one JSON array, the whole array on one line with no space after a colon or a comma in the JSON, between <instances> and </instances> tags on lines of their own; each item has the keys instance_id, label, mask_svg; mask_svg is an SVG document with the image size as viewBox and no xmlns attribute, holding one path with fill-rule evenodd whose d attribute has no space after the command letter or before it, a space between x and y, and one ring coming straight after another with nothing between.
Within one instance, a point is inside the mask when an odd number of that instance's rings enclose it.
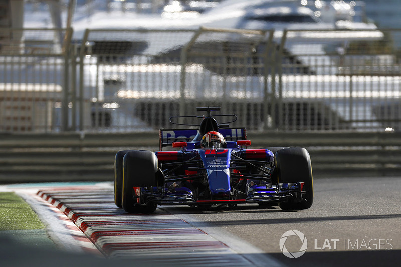
<instances>
[{"instance_id":1,"label":"grey asphalt track right of the red-and-white kerb, below the car","mask_svg":"<svg viewBox=\"0 0 401 267\"><path fill-rule=\"evenodd\" d=\"M250 243L286 265L393 266L401 261L400 192L399 177L327 178L315 179L314 203L304 211L254 205L203 212L165 209L213 236L233 236L239 247ZM280 250L279 240L289 230L307 238L299 258ZM291 236L285 246L297 252L302 242Z\"/></svg>"}]
</instances>

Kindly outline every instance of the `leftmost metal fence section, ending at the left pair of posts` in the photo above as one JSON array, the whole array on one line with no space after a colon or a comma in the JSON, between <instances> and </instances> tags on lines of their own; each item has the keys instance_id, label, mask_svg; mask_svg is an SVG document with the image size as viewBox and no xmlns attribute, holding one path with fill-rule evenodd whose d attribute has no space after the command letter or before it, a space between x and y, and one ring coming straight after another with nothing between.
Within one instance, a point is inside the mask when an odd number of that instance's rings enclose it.
<instances>
[{"instance_id":1,"label":"leftmost metal fence section, ending at the left pair of posts","mask_svg":"<svg viewBox=\"0 0 401 267\"><path fill-rule=\"evenodd\" d=\"M0 132L55 132L67 123L71 34L0 29Z\"/></svg>"}]
</instances>

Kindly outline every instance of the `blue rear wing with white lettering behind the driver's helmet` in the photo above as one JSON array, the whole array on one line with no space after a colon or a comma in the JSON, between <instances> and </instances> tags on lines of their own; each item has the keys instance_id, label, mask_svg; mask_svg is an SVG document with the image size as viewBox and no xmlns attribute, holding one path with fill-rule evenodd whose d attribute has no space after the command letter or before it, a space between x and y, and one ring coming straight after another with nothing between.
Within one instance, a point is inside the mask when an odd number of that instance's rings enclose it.
<instances>
[{"instance_id":1,"label":"blue rear wing with white lettering behind the driver's helmet","mask_svg":"<svg viewBox=\"0 0 401 267\"><path fill-rule=\"evenodd\" d=\"M247 140L247 130L239 128L219 129L219 133L224 136L226 141ZM172 145L173 142L192 142L197 134L197 129L163 129L160 130L160 151L163 147Z\"/></svg>"}]
</instances>

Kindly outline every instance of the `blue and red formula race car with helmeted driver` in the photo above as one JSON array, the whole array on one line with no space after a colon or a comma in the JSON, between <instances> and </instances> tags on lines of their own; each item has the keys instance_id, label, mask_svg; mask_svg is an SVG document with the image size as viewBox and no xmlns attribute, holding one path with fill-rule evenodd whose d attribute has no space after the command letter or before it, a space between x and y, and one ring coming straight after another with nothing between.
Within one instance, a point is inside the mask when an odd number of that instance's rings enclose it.
<instances>
[{"instance_id":1,"label":"blue and red formula race car with helmeted driver","mask_svg":"<svg viewBox=\"0 0 401 267\"><path fill-rule=\"evenodd\" d=\"M313 179L309 153L300 147L247 149L245 128L230 128L234 114L174 116L180 125L202 119L198 129L160 130L160 151L122 150L114 160L114 202L129 213L151 213L157 205L278 203L283 210L310 208ZM233 120L218 124L217 117ZM178 122L174 122L177 120ZM162 151L172 146L175 151Z\"/></svg>"}]
</instances>

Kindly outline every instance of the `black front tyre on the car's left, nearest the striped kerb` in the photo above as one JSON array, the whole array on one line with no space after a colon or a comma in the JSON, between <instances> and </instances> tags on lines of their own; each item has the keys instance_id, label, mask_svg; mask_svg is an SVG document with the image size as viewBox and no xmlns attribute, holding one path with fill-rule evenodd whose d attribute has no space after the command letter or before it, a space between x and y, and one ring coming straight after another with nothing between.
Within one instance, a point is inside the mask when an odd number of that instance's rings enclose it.
<instances>
[{"instance_id":1,"label":"black front tyre on the car's left, nearest the striped kerb","mask_svg":"<svg viewBox=\"0 0 401 267\"><path fill-rule=\"evenodd\" d=\"M151 213L157 208L153 202L140 204L133 187L157 186L157 156L146 150L127 152L123 158L122 208L128 213Z\"/></svg>"}]
</instances>

